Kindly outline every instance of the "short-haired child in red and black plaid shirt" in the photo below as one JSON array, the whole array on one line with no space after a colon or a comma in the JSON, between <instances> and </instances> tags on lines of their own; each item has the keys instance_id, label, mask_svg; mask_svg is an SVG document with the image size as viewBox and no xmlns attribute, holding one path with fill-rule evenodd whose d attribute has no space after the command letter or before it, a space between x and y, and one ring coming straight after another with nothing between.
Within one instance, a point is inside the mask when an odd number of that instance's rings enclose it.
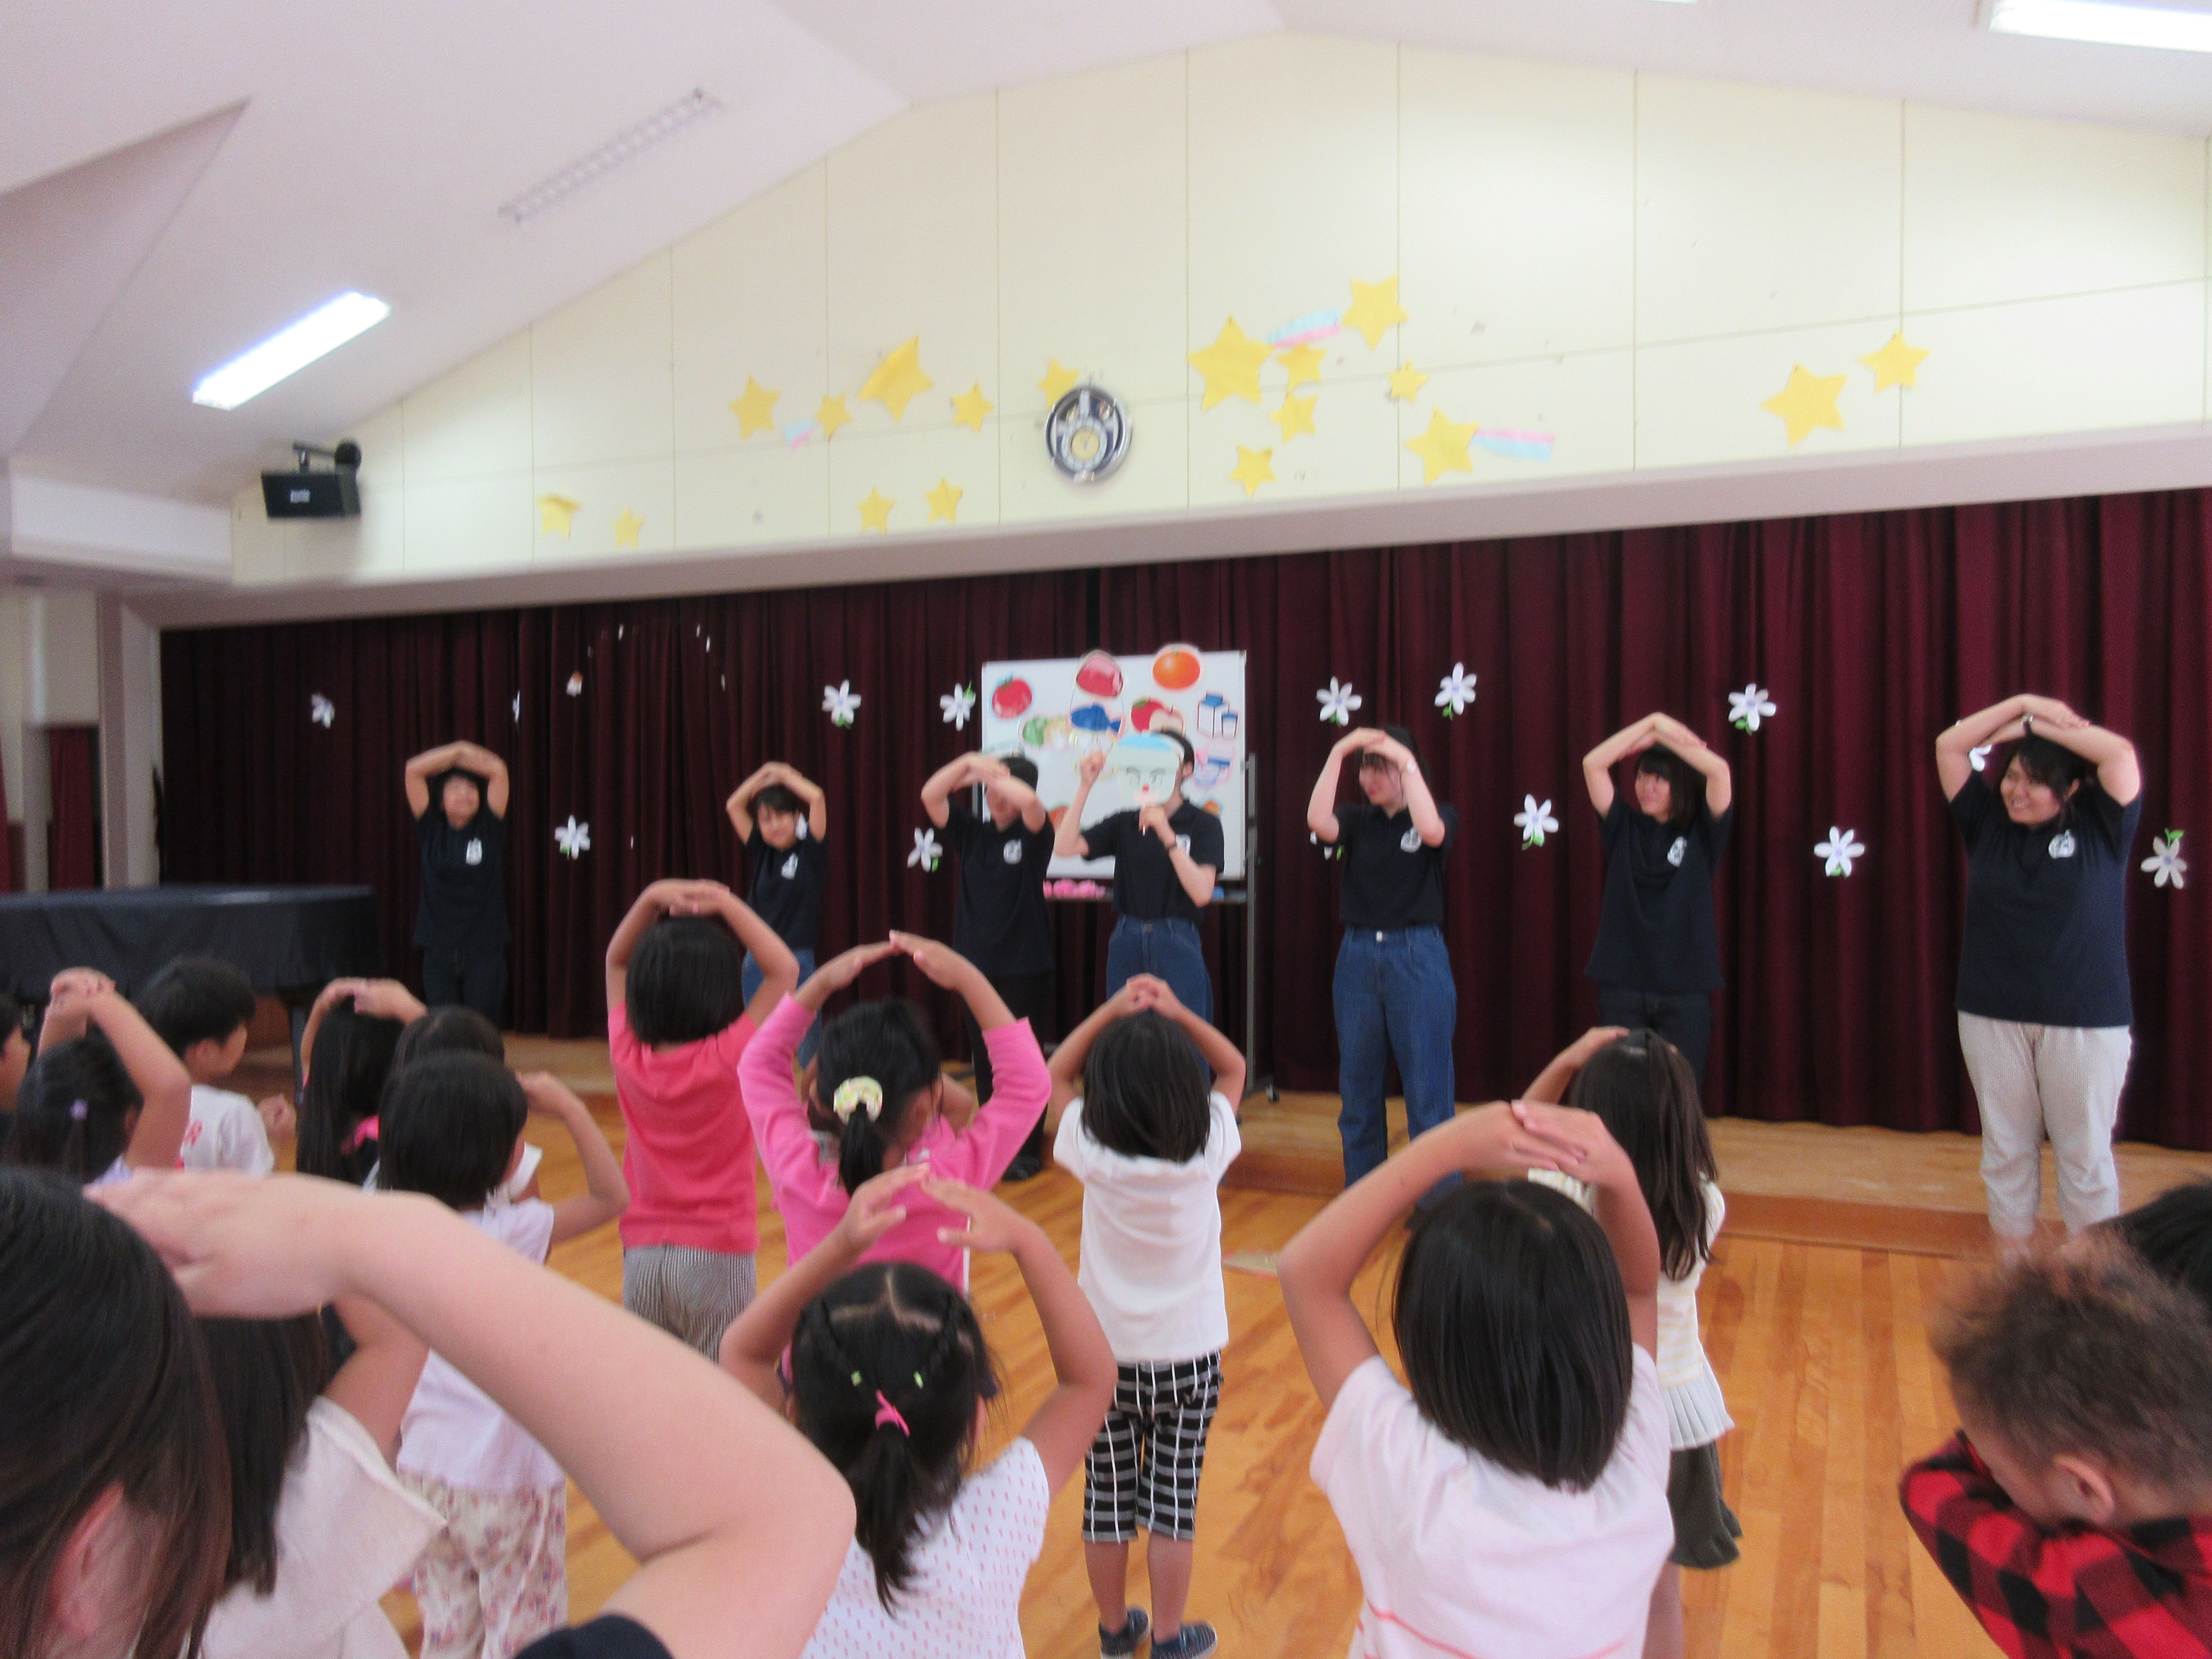
<instances>
[{"instance_id":1,"label":"short-haired child in red and black plaid shirt","mask_svg":"<svg viewBox=\"0 0 2212 1659\"><path fill-rule=\"evenodd\" d=\"M2015 1659L2212 1657L2212 1323L2119 1239L1991 1267L1938 1321L1960 1433L1905 1471Z\"/></svg>"}]
</instances>

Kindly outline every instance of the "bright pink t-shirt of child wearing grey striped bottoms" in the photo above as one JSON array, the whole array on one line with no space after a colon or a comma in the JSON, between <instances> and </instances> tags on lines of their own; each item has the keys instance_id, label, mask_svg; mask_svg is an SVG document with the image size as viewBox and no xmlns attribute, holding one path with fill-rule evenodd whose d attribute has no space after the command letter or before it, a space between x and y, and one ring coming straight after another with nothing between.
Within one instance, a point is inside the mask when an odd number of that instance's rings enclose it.
<instances>
[{"instance_id":1,"label":"bright pink t-shirt of child wearing grey striped bottoms","mask_svg":"<svg viewBox=\"0 0 2212 1659\"><path fill-rule=\"evenodd\" d=\"M606 1051L628 1141L622 1179L630 1208L622 1243L684 1245L748 1256L761 1243L752 1192L752 1119L739 1091L739 1057L752 1020L712 1037L653 1053L630 1031L624 1004L606 1011ZM790 1088L790 1084L785 1084Z\"/></svg>"}]
</instances>

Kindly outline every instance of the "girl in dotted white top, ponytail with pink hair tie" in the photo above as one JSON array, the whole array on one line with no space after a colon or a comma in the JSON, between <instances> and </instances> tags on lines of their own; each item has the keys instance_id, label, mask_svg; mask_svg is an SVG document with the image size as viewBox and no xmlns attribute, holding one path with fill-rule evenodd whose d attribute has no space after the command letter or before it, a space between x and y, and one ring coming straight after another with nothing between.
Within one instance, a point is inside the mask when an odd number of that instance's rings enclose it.
<instances>
[{"instance_id":1,"label":"girl in dotted white top, ponytail with pink hair tie","mask_svg":"<svg viewBox=\"0 0 2212 1659\"><path fill-rule=\"evenodd\" d=\"M860 1263L909 1208L936 1206L964 1221L940 1228L942 1243L1020 1265L1060 1378L1013 1444L973 1471L998 1394L975 1310L929 1267ZM836 1228L723 1332L721 1363L852 1486L852 1548L805 1659L1020 1659L1022 1584L1115 1378L1091 1303L1035 1221L900 1164L863 1181Z\"/></svg>"}]
</instances>

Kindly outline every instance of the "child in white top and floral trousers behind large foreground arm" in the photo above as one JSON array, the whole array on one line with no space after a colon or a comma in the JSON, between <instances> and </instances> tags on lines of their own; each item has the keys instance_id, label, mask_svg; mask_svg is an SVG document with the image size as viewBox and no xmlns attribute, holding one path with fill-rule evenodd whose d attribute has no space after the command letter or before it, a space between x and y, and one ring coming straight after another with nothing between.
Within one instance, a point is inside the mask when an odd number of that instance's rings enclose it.
<instances>
[{"instance_id":1,"label":"child in white top and floral trousers behind large foreground arm","mask_svg":"<svg viewBox=\"0 0 2212 1659\"><path fill-rule=\"evenodd\" d=\"M557 1117L584 1161L586 1192L560 1203L502 1194L522 1161L522 1124ZM392 1075L378 1121L376 1183L425 1192L531 1261L602 1228L630 1203L613 1148L546 1073L518 1079L478 1053L434 1053ZM442 1356L422 1367L400 1425L400 1478L445 1517L416 1564L422 1659L509 1659L568 1621L568 1484L513 1418Z\"/></svg>"}]
</instances>

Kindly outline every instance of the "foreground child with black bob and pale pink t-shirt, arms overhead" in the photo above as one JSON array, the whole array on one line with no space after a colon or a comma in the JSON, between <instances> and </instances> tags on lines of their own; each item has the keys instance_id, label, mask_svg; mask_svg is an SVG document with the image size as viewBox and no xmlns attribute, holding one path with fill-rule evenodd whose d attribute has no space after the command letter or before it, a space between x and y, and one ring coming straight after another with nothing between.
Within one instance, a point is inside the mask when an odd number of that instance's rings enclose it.
<instances>
[{"instance_id":1,"label":"foreground child with black bob and pale pink t-shirt, arms overhead","mask_svg":"<svg viewBox=\"0 0 2212 1659\"><path fill-rule=\"evenodd\" d=\"M1597 1219L1531 1181L1467 1181L1413 1214L1400 1383L1352 1281L1444 1177L1531 1168L1595 1188ZM1639 1652L1674 1542L1659 1239L1606 1126L1526 1102L1460 1113L1310 1221L1279 1274L1329 1411L1314 1480L1360 1568L1352 1652Z\"/></svg>"}]
</instances>

